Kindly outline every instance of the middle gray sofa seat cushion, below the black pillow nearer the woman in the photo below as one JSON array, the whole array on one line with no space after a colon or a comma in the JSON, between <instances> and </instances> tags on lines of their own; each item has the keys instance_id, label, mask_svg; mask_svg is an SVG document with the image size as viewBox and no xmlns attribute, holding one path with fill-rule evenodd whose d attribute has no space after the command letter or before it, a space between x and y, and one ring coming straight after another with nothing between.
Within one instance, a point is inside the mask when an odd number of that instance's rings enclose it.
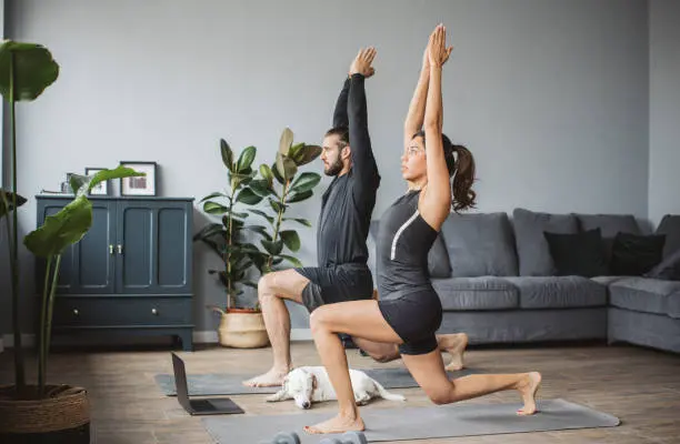
<instances>
[{"instance_id":1,"label":"middle gray sofa seat cushion, below the black pillow nearer the woman","mask_svg":"<svg viewBox=\"0 0 680 444\"><path fill-rule=\"evenodd\" d=\"M607 304L607 287L581 276L506 278L519 290L522 309L560 309L602 306Z\"/></svg>"}]
</instances>

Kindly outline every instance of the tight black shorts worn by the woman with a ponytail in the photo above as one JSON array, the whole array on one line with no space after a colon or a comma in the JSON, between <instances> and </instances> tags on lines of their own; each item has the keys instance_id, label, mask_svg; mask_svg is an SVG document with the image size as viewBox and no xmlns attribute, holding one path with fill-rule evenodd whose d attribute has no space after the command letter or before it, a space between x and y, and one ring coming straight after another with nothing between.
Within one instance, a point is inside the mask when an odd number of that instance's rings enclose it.
<instances>
[{"instance_id":1,"label":"tight black shorts worn by the woman with a ponytail","mask_svg":"<svg viewBox=\"0 0 680 444\"><path fill-rule=\"evenodd\" d=\"M426 354L437 350L437 330L441 325L441 300L433 289L404 295L380 295L378 307L403 344L401 354Z\"/></svg>"}]
</instances>

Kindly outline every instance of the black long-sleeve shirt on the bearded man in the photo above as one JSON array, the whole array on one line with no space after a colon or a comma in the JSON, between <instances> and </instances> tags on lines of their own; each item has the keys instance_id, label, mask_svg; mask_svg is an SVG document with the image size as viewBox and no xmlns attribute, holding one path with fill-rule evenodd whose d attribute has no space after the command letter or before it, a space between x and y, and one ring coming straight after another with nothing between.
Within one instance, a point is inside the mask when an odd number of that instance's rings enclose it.
<instances>
[{"instance_id":1,"label":"black long-sleeve shirt on the bearded man","mask_svg":"<svg viewBox=\"0 0 680 444\"><path fill-rule=\"evenodd\" d=\"M380 174L368 130L364 77L346 79L333 112L333 127L349 127L351 168L336 176L321 200L317 228L319 266L368 261L369 234Z\"/></svg>"}]
</instances>

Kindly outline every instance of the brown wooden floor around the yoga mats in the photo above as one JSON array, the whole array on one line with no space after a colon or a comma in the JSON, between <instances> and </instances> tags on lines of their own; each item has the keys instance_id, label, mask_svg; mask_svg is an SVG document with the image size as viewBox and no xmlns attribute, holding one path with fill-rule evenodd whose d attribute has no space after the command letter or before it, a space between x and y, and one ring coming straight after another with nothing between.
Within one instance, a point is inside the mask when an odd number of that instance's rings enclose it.
<instances>
[{"instance_id":1,"label":"brown wooden floor around the yoga mats","mask_svg":"<svg viewBox=\"0 0 680 444\"><path fill-rule=\"evenodd\" d=\"M189 373L257 373L267 369L270 349L233 350L208 346L178 352ZM376 364L348 351L350 365L399 366L400 361ZM298 365L319 363L312 343L293 344ZM542 398L562 397L612 414L621 425L611 428L520 433L417 443L678 443L680 442L680 356L653 350L618 346L542 346L532 349L472 349L471 367L498 373L538 370L543 374ZM0 382L12 374L11 351L0 354ZM161 394L157 373L171 373L168 350L58 351L50 361L51 382L78 384L89 390L93 440L97 444L212 443L199 417L189 416L174 397ZM393 390L409 405L431 405L418 389ZM247 415L300 413L292 402L264 403L263 395L231 396ZM518 402L503 392L467 403ZM334 403L316 404L316 411L334 414ZM377 401L362 408L399 408ZM400 442L403 443L403 442ZM416 443L416 441L413 441ZM234 443L236 444L236 443ZM250 444L250 443L242 443Z\"/></svg>"}]
</instances>

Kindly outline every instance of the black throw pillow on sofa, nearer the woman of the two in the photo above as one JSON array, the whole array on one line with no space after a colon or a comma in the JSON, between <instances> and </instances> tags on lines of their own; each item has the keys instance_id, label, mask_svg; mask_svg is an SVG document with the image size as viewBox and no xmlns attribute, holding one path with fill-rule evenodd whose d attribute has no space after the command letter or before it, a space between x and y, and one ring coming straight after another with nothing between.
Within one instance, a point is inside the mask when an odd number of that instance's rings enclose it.
<instances>
[{"instance_id":1,"label":"black throw pillow on sofa, nearer the woman of the two","mask_svg":"<svg viewBox=\"0 0 680 444\"><path fill-rule=\"evenodd\" d=\"M608 274L607 253L601 230L573 234L544 231L558 276L602 276Z\"/></svg>"}]
</instances>

